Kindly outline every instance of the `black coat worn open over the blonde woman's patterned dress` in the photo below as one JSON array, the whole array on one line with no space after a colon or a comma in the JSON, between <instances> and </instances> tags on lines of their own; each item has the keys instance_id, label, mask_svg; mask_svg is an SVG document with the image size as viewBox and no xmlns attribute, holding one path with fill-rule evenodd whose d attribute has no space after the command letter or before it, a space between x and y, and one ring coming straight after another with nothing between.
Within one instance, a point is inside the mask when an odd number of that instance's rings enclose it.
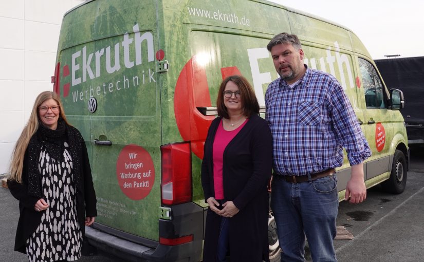
<instances>
[{"instance_id":1,"label":"black coat worn open over the blonde woman's patterned dress","mask_svg":"<svg viewBox=\"0 0 424 262\"><path fill-rule=\"evenodd\" d=\"M81 145L80 152L77 152L77 157L79 158L78 161L80 161L80 169L78 171L74 170L74 172L78 172L81 177L81 181L78 183L77 188L77 214L80 228L84 235L85 217L97 216L96 193L94 191L93 178L91 177L90 163L84 139L75 127L70 126L69 133ZM28 194L29 163L30 161L27 148L22 172L23 182L17 183L15 180L8 180L7 182L10 193L19 200L20 217L17 222L14 250L22 253L26 253L25 242L39 226L43 212L46 212L35 211L34 205L40 197Z\"/></svg>"}]
</instances>

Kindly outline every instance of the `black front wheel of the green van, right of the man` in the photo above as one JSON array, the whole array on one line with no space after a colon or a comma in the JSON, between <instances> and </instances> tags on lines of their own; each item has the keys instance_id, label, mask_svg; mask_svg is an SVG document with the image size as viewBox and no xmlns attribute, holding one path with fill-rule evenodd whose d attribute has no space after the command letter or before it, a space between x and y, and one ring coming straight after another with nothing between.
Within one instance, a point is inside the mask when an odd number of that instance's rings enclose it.
<instances>
[{"instance_id":1,"label":"black front wheel of the green van, right of the man","mask_svg":"<svg viewBox=\"0 0 424 262\"><path fill-rule=\"evenodd\" d=\"M407 185L407 160L400 150L395 151L392 163L392 171L388 180L381 183L385 192L400 194Z\"/></svg>"}]
</instances>

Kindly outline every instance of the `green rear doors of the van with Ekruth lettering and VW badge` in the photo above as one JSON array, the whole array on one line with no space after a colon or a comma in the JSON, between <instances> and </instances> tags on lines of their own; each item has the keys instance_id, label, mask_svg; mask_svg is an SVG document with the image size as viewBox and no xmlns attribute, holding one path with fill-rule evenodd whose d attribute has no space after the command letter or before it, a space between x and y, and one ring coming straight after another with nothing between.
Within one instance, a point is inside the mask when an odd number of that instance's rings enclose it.
<instances>
[{"instance_id":1,"label":"green rear doors of the van with Ekruth lettering and VW badge","mask_svg":"<svg viewBox=\"0 0 424 262\"><path fill-rule=\"evenodd\" d=\"M161 145L156 1L140 6L93 1L64 17L57 90L91 154L94 227L152 247Z\"/></svg>"}]
</instances>

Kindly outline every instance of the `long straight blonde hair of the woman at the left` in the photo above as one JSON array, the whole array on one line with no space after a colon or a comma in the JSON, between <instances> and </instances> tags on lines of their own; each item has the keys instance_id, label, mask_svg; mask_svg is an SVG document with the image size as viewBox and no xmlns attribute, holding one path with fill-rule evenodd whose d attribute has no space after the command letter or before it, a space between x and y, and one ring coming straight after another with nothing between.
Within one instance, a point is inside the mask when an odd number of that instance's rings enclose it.
<instances>
[{"instance_id":1,"label":"long straight blonde hair of the woman at the left","mask_svg":"<svg viewBox=\"0 0 424 262\"><path fill-rule=\"evenodd\" d=\"M38 97L35 99L34 105L32 106L32 111L28 122L25 125L24 130L22 130L21 136L16 141L9 167L9 179L22 183L25 151L28 147L29 140L35 134L35 132L37 132L41 122L39 106L49 99L54 99L58 103L60 106L60 118L62 118L65 123L69 125L68 121L66 120L65 111L63 110L63 105L58 94L52 91L44 91L40 93L40 95L38 95Z\"/></svg>"}]
</instances>

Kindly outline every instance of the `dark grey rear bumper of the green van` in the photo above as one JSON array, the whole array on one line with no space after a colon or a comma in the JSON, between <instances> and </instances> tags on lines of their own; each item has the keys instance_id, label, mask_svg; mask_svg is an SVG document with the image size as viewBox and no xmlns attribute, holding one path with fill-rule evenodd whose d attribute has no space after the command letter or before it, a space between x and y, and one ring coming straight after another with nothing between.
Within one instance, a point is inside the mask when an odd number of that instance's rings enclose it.
<instances>
[{"instance_id":1,"label":"dark grey rear bumper of the green van","mask_svg":"<svg viewBox=\"0 0 424 262\"><path fill-rule=\"evenodd\" d=\"M190 202L173 206L172 213L172 220L159 219L159 236L172 237L172 235L192 234L193 241L176 246L166 246L149 240L156 244L156 247L152 248L92 227L85 227L85 236L91 246L127 261L188 262L200 260L203 244L203 209Z\"/></svg>"}]
</instances>

